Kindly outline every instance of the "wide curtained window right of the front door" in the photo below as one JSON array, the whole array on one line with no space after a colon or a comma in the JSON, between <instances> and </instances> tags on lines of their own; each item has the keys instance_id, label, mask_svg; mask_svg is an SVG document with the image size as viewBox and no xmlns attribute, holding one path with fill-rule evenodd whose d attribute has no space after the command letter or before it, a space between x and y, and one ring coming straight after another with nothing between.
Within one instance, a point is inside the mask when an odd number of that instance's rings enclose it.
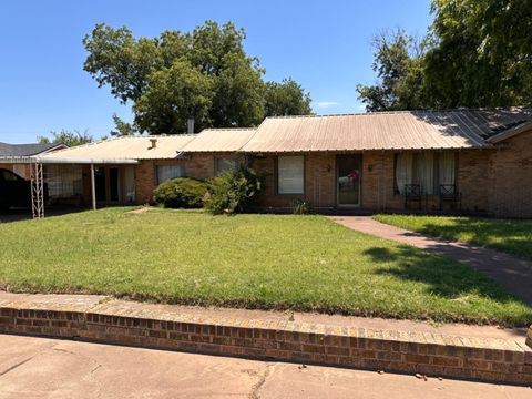
<instances>
[{"instance_id":1,"label":"wide curtained window right of the front door","mask_svg":"<svg viewBox=\"0 0 532 399\"><path fill-rule=\"evenodd\" d=\"M402 195L406 184L419 184L422 194L438 195L440 185L456 184L454 170L453 152L396 154L395 191Z\"/></svg>"}]
</instances>

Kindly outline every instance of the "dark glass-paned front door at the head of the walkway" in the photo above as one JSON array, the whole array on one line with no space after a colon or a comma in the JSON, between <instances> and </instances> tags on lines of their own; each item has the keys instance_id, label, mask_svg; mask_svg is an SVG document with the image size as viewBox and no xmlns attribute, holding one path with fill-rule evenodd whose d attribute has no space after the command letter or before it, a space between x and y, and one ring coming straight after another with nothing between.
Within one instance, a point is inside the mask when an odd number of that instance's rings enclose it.
<instances>
[{"instance_id":1,"label":"dark glass-paned front door at the head of the walkway","mask_svg":"<svg viewBox=\"0 0 532 399\"><path fill-rule=\"evenodd\" d=\"M336 170L338 177L338 206L360 206L362 155L338 155Z\"/></svg>"}]
</instances>

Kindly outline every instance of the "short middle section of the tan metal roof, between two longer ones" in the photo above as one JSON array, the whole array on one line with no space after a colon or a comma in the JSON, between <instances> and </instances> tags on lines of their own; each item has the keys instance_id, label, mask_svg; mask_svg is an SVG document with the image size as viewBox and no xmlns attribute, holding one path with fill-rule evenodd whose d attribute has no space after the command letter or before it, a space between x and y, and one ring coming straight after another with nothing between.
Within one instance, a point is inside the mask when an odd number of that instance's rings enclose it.
<instances>
[{"instance_id":1,"label":"short middle section of the tan metal roof, between two longer ones","mask_svg":"<svg viewBox=\"0 0 532 399\"><path fill-rule=\"evenodd\" d=\"M255 133L249 129L205 129L185 145L184 152L239 151Z\"/></svg>"}]
</instances>

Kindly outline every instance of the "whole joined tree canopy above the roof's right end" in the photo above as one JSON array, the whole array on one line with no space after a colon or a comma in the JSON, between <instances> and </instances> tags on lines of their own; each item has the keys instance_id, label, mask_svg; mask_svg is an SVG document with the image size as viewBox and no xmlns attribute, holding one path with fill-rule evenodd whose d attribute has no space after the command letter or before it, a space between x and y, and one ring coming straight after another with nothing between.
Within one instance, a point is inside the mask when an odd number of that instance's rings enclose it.
<instances>
[{"instance_id":1,"label":"whole joined tree canopy above the roof's right end","mask_svg":"<svg viewBox=\"0 0 532 399\"><path fill-rule=\"evenodd\" d=\"M532 104L532 0L433 0L426 38L374 40L368 111Z\"/></svg>"}]
</instances>

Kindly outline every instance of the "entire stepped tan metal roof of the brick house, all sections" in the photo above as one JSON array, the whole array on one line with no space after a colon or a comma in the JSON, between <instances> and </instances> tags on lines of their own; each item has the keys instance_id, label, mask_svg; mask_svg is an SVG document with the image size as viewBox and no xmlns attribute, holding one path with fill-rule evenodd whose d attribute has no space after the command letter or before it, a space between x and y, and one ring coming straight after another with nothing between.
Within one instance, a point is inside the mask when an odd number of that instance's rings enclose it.
<instances>
[{"instance_id":1,"label":"entire stepped tan metal roof of the brick house, all sections","mask_svg":"<svg viewBox=\"0 0 532 399\"><path fill-rule=\"evenodd\" d=\"M136 163L176 158L191 152L480 149L492 147L528 130L531 123L530 108L267 117L257 129L207 129L200 134L119 137L58 150L33 160Z\"/></svg>"}]
</instances>

